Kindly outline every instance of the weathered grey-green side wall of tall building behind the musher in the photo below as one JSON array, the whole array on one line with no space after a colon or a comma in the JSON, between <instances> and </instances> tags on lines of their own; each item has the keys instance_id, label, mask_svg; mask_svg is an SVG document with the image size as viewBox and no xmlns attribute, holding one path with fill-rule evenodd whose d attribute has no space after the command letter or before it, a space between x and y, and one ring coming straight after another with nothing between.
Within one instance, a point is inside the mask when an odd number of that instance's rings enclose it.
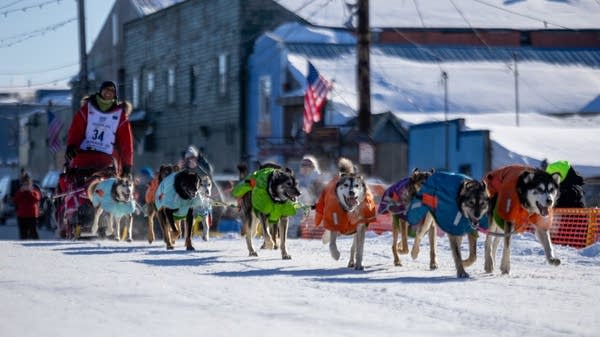
<instances>
[{"instance_id":1,"label":"weathered grey-green side wall of tall building behind the musher","mask_svg":"<svg viewBox=\"0 0 600 337\"><path fill-rule=\"evenodd\" d=\"M136 161L176 162L188 144L195 144L217 171L235 171L245 157L247 57L261 32L291 17L273 1L189 0L126 24L126 93L132 98L131 83L139 77L138 109L146 112L152 130L145 140L152 146ZM225 94L218 85L222 54ZM167 101L169 67L176 73L172 104ZM146 82L150 72L152 94Z\"/></svg>"}]
</instances>

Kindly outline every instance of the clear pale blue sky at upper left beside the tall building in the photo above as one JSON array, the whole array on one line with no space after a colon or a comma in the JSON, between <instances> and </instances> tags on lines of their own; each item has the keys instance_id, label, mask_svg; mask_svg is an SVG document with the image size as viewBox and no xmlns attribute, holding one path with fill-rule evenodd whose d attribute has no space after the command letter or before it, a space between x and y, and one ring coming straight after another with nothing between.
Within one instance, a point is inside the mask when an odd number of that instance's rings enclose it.
<instances>
[{"instance_id":1,"label":"clear pale blue sky at upper left beside the tall building","mask_svg":"<svg viewBox=\"0 0 600 337\"><path fill-rule=\"evenodd\" d=\"M87 0L88 51L114 0ZM79 71L75 0L0 1L0 92L32 86L68 88ZM14 89L14 90L12 90Z\"/></svg>"}]
</instances>

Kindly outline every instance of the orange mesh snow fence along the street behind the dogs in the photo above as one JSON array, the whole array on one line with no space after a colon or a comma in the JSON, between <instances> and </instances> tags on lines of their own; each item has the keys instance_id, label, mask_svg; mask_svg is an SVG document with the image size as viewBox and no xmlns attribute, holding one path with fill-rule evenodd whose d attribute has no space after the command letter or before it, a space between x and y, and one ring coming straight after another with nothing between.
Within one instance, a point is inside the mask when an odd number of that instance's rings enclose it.
<instances>
[{"instance_id":1,"label":"orange mesh snow fence along the street behind the dogs","mask_svg":"<svg viewBox=\"0 0 600 337\"><path fill-rule=\"evenodd\" d=\"M600 208L555 208L550 237L557 245L583 248L600 241ZM369 224L369 230L377 234L391 231L391 218L379 215ZM320 239L325 229L315 227L314 215L302 220L300 237ZM530 228L533 231L533 228Z\"/></svg>"}]
</instances>

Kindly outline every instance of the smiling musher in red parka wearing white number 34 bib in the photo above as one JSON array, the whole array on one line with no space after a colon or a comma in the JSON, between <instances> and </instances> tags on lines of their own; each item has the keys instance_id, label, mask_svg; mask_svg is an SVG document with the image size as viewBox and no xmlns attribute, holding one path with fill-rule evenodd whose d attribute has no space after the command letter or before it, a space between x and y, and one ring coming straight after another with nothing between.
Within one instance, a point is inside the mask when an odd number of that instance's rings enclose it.
<instances>
[{"instance_id":1,"label":"smiling musher in red parka wearing white number 34 bib","mask_svg":"<svg viewBox=\"0 0 600 337\"><path fill-rule=\"evenodd\" d=\"M97 93L84 98L67 133L65 159L70 166L98 171L114 168L122 177L131 177L130 112L131 105L117 99L112 81L103 82Z\"/></svg>"}]
</instances>

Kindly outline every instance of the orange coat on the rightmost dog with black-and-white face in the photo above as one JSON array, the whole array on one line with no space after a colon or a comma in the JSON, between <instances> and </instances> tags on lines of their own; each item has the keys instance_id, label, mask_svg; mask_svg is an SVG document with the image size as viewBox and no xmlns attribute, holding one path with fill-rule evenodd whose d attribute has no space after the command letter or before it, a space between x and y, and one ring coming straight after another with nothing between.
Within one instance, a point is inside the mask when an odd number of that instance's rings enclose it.
<instances>
[{"instance_id":1,"label":"orange coat on the rightmost dog with black-and-white face","mask_svg":"<svg viewBox=\"0 0 600 337\"><path fill-rule=\"evenodd\" d=\"M523 172L534 172L534 170L527 166L509 165L485 176L484 182L490 198L498 197L494 208L494 217L502 220L501 223L498 223L500 227L503 227L504 221L511 222L518 233L527 230L529 224L549 229L552 226L552 210L549 210L549 215L544 217L537 213L530 214L521 205L517 194L517 181Z\"/></svg>"}]
</instances>

